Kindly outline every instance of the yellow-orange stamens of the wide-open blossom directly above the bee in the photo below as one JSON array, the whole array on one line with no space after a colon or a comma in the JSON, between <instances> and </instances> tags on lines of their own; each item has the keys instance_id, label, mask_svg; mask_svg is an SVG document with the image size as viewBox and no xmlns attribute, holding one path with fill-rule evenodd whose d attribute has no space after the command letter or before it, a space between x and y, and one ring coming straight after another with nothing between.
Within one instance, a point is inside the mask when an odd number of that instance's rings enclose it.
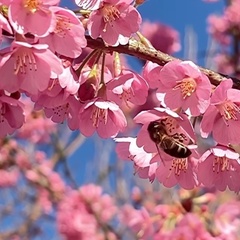
<instances>
[{"instance_id":1,"label":"yellow-orange stamens of the wide-open blossom directly above the bee","mask_svg":"<svg viewBox=\"0 0 240 240\"><path fill-rule=\"evenodd\" d=\"M183 99L190 97L195 92L197 83L193 78L184 78L181 81L177 81L177 85L173 88L174 90L180 89L182 92Z\"/></svg>"}]
</instances>

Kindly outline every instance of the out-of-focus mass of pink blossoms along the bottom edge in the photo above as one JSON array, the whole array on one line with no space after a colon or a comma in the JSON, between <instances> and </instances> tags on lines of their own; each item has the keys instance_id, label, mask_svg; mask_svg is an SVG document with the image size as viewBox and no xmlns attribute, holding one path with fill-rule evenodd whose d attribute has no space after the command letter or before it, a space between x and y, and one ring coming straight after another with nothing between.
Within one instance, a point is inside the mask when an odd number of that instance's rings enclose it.
<instances>
[{"instance_id":1,"label":"out-of-focus mass of pink blossoms along the bottom edge","mask_svg":"<svg viewBox=\"0 0 240 240\"><path fill-rule=\"evenodd\" d=\"M151 193L151 194L149 194ZM167 202L161 192L134 188L131 204L118 208L101 187L70 190L58 206L57 226L66 239L238 239L239 202L211 202L221 195L178 191ZM160 196L159 196L160 195ZM214 211L214 212L213 212ZM236 219L232 221L232 219Z\"/></svg>"}]
</instances>

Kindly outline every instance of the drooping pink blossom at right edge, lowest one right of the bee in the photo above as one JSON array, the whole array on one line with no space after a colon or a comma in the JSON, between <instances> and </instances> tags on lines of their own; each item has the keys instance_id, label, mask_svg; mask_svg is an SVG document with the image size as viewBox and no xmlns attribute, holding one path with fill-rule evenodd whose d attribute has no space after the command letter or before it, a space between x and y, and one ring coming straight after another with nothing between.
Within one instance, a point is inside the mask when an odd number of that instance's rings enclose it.
<instances>
[{"instance_id":1,"label":"drooping pink blossom at right edge, lowest one right of the bee","mask_svg":"<svg viewBox=\"0 0 240 240\"><path fill-rule=\"evenodd\" d=\"M205 187L239 192L239 177L239 154L227 147L214 147L199 159L198 180Z\"/></svg>"}]
</instances>

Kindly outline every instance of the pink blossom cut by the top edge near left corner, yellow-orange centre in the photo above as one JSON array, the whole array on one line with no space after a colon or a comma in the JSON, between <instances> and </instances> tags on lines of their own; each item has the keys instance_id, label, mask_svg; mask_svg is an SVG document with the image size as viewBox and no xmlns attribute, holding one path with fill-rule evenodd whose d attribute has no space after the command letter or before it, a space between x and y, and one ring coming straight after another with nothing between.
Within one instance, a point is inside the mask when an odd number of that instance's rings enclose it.
<instances>
[{"instance_id":1,"label":"pink blossom cut by the top edge near left corner, yellow-orange centre","mask_svg":"<svg viewBox=\"0 0 240 240\"><path fill-rule=\"evenodd\" d=\"M19 34L31 33L46 36L56 24L54 14L49 7L57 5L60 0L25 1L14 0L9 5L10 24ZM40 23L40 24L39 24Z\"/></svg>"}]
</instances>

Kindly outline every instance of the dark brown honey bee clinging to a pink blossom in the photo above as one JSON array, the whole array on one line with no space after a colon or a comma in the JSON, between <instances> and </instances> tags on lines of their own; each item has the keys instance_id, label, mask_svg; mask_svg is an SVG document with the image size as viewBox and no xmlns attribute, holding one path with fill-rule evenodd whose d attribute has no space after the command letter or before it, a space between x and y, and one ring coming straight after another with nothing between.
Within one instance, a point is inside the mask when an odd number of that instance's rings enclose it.
<instances>
[{"instance_id":1,"label":"dark brown honey bee clinging to a pink blossom","mask_svg":"<svg viewBox=\"0 0 240 240\"><path fill-rule=\"evenodd\" d=\"M189 148L183 143L186 136L179 133L170 135L163 121L150 122L147 130L151 140L157 146L158 153L160 148L175 158L187 158L192 154Z\"/></svg>"}]
</instances>

